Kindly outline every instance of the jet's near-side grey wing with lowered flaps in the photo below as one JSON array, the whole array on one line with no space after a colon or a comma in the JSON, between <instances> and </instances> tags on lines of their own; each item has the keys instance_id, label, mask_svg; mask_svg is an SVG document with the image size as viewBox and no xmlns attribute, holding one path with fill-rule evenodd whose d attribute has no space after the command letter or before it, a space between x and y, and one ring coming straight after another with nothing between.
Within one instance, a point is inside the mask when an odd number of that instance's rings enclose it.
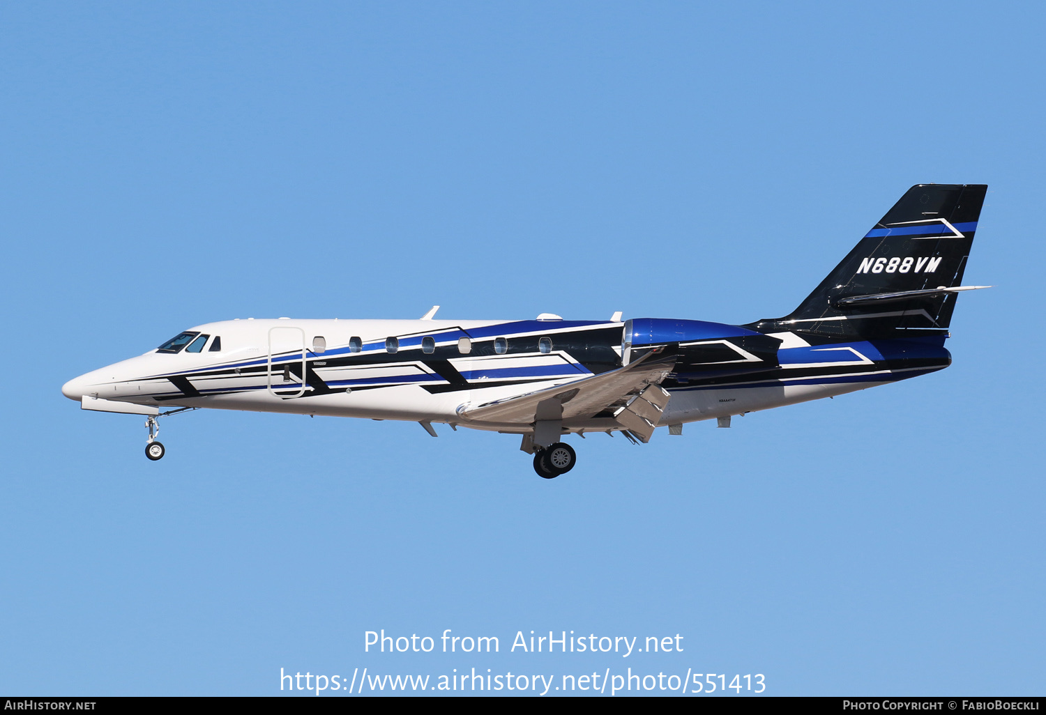
<instances>
[{"instance_id":1,"label":"jet's near-side grey wing with lowered flaps","mask_svg":"<svg viewBox=\"0 0 1046 715\"><path fill-rule=\"evenodd\" d=\"M668 403L668 393L658 384L675 364L675 353L655 348L616 370L472 407L460 415L470 421L530 424L544 419L569 423L606 413L617 420L616 429L645 442Z\"/></svg>"}]
</instances>

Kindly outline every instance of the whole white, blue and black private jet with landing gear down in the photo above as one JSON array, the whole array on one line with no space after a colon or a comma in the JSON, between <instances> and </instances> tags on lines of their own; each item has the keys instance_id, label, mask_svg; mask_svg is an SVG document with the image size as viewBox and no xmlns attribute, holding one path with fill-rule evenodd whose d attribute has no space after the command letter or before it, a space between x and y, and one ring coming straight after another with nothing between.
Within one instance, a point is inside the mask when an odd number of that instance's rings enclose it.
<instances>
[{"instance_id":1,"label":"whole white, blue and black private jet with landing gear down","mask_svg":"<svg viewBox=\"0 0 1046 715\"><path fill-rule=\"evenodd\" d=\"M233 320L69 380L85 410L214 408L434 422L522 436L546 479L569 471L563 435L647 442L683 424L831 397L940 370L986 186L919 184L783 318L747 325L621 321Z\"/></svg>"}]
</instances>

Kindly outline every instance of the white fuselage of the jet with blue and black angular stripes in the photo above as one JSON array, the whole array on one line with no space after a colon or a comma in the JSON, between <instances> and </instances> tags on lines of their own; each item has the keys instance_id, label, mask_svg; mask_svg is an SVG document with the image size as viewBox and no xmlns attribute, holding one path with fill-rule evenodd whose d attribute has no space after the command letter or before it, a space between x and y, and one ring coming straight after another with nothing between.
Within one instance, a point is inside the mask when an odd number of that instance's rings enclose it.
<instances>
[{"instance_id":1,"label":"white fuselage of the jet with blue and black angular stripes","mask_svg":"<svg viewBox=\"0 0 1046 715\"><path fill-rule=\"evenodd\" d=\"M199 325L177 352L153 350L70 380L63 393L160 409L210 408L446 422L525 433L530 421L484 422L478 406L619 368L630 350L659 343L683 351L687 338L722 348L698 364L680 361L661 382L670 399L658 425L740 415L896 382L947 367L943 337L812 344L770 333L777 364L730 352L738 326L643 346L610 321L234 320ZM185 333L183 333L185 335ZM206 336L198 351L191 343ZM676 337L676 336L669 336ZM664 338L664 336L655 336ZM808 336L809 338L809 336ZM212 347L218 341L218 348ZM394 342L393 342L394 341ZM423 345L424 341L424 345ZM430 342L431 341L431 342ZM733 346L736 351L738 348ZM751 353L748 353L751 354ZM304 376L304 379L302 379ZM570 432L607 429L577 419Z\"/></svg>"}]
</instances>

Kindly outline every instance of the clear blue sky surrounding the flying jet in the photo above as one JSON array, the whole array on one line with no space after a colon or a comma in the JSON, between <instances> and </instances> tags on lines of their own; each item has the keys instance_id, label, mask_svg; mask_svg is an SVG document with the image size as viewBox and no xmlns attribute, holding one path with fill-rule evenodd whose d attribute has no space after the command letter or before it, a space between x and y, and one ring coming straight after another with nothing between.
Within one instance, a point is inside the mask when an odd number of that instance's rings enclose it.
<instances>
[{"instance_id":1,"label":"clear blue sky surrounding the flying jet","mask_svg":"<svg viewBox=\"0 0 1046 715\"><path fill-rule=\"evenodd\" d=\"M0 7L0 691L633 667L1042 694L1043 25L1033 3ZM776 317L923 182L990 184L965 282L998 287L959 299L951 368L572 438L552 481L515 437L206 411L151 463L137 417L60 392L236 317ZM381 628L502 652L365 653ZM684 651L505 652L531 629Z\"/></svg>"}]
</instances>

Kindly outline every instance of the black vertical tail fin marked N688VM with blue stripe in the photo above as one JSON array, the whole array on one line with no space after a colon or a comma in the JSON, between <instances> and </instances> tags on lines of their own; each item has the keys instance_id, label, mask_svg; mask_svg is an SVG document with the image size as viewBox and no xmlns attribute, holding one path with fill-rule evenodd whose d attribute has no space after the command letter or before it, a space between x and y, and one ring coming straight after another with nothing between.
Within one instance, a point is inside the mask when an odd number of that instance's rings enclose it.
<instances>
[{"instance_id":1,"label":"black vertical tail fin marked N688VM with blue stripe","mask_svg":"<svg viewBox=\"0 0 1046 715\"><path fill-rule=\"evenodd\" d=\"M947 331L985 184L916 184L799 307L753 324L832 337ZM983 287L983 286L977 286Z\"/></svg>"}]
</instances>

